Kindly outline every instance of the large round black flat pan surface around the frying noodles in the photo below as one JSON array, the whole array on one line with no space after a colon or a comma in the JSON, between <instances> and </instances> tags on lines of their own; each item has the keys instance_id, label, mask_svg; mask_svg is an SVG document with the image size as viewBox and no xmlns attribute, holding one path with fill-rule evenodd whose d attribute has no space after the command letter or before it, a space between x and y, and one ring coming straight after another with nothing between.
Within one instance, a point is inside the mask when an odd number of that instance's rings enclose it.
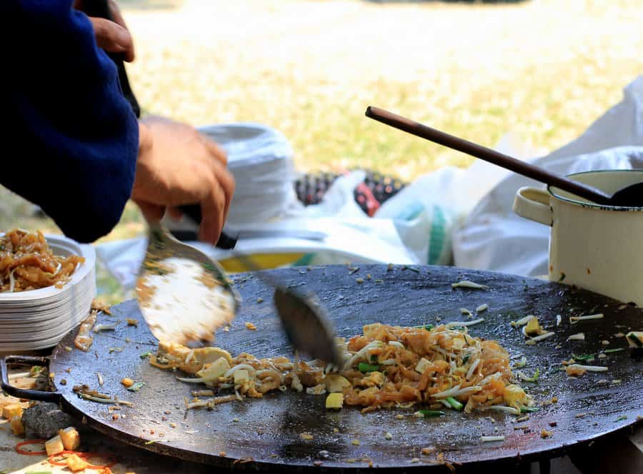
<instances>
[{"instance_id":1,"label":"large round black flat pan surface around the frying noodles","mask_svg":"<svg viewBox=\"0 0 643 474\"><path fill-rule=\"evenodd\" d=\"M557 283L461 268L362 266L349 274L346 266L328 266L271 273L290 286L314 291L340 336L361 333L365 323L416 326L438 320L462 321L459 308L473 311L487 303L489 309L481 313L486 321L469 331L500 341L514 356L525 356L528 365L523 370L531 374L539 368L541 376L538 383L523 385L537 401L554 397L558 401L542 406L520 423L512 415L489 411L464 414L448 410L444 417L429 419L414 418L414 409L367 415L354 408L329 412L324 409L323 395L291 391L186 413L184 397L191 398L190 390L199 387L181 383L175 373L141 359L140 354L154 351L156 344L134 301L112 308L111 316L99 315L99 321L120 320L121 324L116 331L97 334L90 352L65 349L74 346L73 333L60 343L49 360L55 373L55 393L29 393L6 384L5 390L25 398L55 400L96 430L140 448L221 467L279 468L280 472L369 467L395 468L397 472L440 470L445 461L468 470L483 463L542 460L637 423L637 417L643 415L643 363L632 358L629 350L594 361L594 365L609 367L607 373L569 379L560 370L561 361L572 353L596 356L604 349L627 348L627 341L615 334L643 327L639 308ZM357 278L364 278L364 283L357 283ZM484 283L489 289L452 289L451 284L463 278ZM259 357L290 356L271 305L270 289L252 274L235 276L234 284L244 304L229 333L217 334L217 345L233 354L247 351ZM604 313L604 318L570 326L569 316L592 313ZM527 346L509 321L528 314L539 316L555 336ZM558 314L562 324L557 327ZM138 319L139 326L126 326L125 318ZM246 321L255 323L257 330L246 329ZM579 332L586 334L585 341L567 342L570 334ZM602 341L609 341L609 345ZM110 348L122 348L122 352L110 353ZM19 358L8 358L9 362L16 360ZM100 389L96 372L104 379ZM124 377L145 385L131 393L120 383ZM61 379L66 379L66 385ZM134 407L124 407L120 413L125 416L114 420L106 405L82 400L72 391L80 384L130 400ZM396 418L399 413L404 414L403 420ZM170 423L176 423L177 428L171 428ZM543 429L552 436L542 438ZM302 439L304 432L313 438ZM392 439L384 437L387 432ZM504 435L505 440L482 443L481 435ZM354 440L359 440L359 445L354 445ZM422 448L432 451L423 455Z\"/></svg>"}]
</instances>

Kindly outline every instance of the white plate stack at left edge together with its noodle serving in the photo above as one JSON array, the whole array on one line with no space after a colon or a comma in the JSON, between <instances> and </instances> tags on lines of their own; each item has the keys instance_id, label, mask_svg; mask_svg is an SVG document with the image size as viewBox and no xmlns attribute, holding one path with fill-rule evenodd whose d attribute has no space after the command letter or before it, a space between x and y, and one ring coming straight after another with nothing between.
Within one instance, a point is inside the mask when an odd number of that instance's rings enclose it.
<instances>
[{"instance_id":1,"label":"white plate stack at left edge together with its noodle serving","mask_svg":"<svg viewBox=\"0 0 643 474\"><path fill-rule=\"evenodd\" d=\"M55 346L89 313L94 249L64 236L0 233L0 351Z\"/></svg>"}]
</instances>

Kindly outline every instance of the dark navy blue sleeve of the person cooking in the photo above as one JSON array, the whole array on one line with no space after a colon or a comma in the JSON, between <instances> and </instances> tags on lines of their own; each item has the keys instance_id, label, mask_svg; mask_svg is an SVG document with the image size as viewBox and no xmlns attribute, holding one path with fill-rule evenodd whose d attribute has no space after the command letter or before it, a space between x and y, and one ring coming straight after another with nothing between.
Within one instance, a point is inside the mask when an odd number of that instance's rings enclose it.
<instances>
[{"instance_id":1,"label":"dark navy blue sleeve of the person cooking","mask_svg":"<svg viewBox=\"0 0 643 474\"><path fill-rule=\"evenodd\" d=\"M2 0L0 183L91 242L131 194L139 128L116 66L73 0Z\"/></svg>"}]
</instances>

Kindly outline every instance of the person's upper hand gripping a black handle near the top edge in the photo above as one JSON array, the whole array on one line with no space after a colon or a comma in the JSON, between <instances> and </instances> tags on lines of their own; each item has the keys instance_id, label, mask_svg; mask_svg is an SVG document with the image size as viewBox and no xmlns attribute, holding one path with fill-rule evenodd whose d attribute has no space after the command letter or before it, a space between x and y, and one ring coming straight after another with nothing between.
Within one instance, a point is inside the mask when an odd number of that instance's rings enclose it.
<instances>
[{"instance_id":1,"label":"person's upper hand gripping a black handle near the top edge","mask_svg":"<svg viewBox=\"0 0 643 474\"><path fill-rule=\"evenodd\" d=\"M86 0L74 0L74 8L79 11L85 11L84 4ZM89 21L94 26L96 44L99 48L110 53L123 53L126 62L134 61L134 41L127 29L123 15L118 4L114 0L107 0L109 10L114 21L104 18L88 16Z\"/></svg>"}]
</instances>

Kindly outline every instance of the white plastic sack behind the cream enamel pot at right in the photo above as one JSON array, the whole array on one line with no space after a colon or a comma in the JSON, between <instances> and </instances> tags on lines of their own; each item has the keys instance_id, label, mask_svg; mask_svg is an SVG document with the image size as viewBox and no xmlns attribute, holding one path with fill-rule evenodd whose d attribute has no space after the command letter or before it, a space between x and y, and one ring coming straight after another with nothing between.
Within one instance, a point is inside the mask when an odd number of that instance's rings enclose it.
<instances>
[{"instance_id":1,"label":"white plastic sack behind the cream enamel pot at right","mask_svg":"<svg viewBox=\"0 0 643 474\"><path fill-rule=\"evenodd\" d=\"M579 138L534 161L560 174L596 169L643 167L643 76L624 89L621 103L609 109ZM519 275L549 273L549 228L514 214L514 195L540 183L511 174L469 213L454 232L457 266Z\"/></svg>"}]
</instances>

